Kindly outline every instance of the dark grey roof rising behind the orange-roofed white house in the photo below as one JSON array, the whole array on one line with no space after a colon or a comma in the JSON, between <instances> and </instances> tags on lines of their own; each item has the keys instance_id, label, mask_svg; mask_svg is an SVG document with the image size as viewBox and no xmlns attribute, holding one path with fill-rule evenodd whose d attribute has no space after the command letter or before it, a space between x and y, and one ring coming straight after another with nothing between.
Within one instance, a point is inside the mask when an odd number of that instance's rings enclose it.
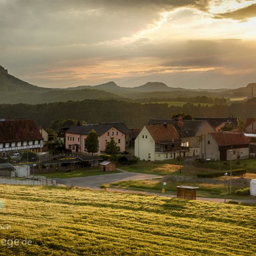
<instances>
[{"instance_id":1,"label":"dark grey roof rising behind the orange-roofed white house","mask_svg":"<svg viewBox=\"0 0 256 256\"><path fill-rule=\"evenodd\" d=\"M183 120L184 125L181 128L181 137L194 137L201 125L207 121L204 120ZM177 131L179 131L178 120L175 119L150 119L148 125L156 124L172 124Z\"/></svg>"}]
</instances>

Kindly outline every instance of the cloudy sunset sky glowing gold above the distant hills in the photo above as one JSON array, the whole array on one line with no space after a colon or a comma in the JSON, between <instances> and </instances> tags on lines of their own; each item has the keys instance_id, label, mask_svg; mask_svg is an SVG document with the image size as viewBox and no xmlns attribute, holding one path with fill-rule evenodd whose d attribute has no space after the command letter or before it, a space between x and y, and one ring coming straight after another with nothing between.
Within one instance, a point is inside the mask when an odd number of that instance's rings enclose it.
<instances>
[{"instance_id":1,"label":"cloudy sunset sky glowing gold above the distant hills","mask_svg":"<svg viewBox=\"0 0 256 256\"><path fill-rule=\"evenodd\" d=\"M256 82L256 0L0 0L0 65L31 84Z\"/></svg>"}]
</instances>

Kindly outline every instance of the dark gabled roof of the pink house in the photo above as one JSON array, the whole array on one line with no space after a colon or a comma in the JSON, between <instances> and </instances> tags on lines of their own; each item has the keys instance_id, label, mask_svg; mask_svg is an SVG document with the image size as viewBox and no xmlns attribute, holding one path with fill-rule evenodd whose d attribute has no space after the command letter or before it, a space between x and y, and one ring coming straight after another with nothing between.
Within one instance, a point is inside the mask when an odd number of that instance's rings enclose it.
<instances>
[{"instance_id":1,"label":"dark gabled roof of the pink house","mask_svg":"<svg viewBox=\"0 0 256 256\"><path fill-rule=\"evenodd\" d=\"M87 124L87 125L80 125L80 126L72 126L70 129L66 131L66 133L74 133L74 134L85 134L88 135L91 130L94 130L98 136L102 135L103 133L107 132L111 129L111 127L115 127L114 125L105 125L105 124ZM118 131L117 127L115 127ZM122 131L121 131L122 132Z\"/></svg>"}]
</instances>

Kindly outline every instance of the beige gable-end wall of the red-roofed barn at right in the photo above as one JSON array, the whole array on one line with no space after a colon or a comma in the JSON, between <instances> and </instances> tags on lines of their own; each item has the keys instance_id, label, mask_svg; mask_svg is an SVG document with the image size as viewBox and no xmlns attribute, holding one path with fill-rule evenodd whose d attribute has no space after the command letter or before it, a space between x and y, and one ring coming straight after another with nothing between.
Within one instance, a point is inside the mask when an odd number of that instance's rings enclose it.
<instances>
[{"instance_id":1,"label":"beige gable-end wall of the red-roofed barn at right","mask_svg":"<svg viewBox=\"0 0 256 256\"><path fill-rule=\"evenodd\" d=\"M219 159L219 146L210 133L203 136L203 140L200 142L200 149L203 150L203 152L200 153L201 158Z\"/></svg>"}]
</instances>

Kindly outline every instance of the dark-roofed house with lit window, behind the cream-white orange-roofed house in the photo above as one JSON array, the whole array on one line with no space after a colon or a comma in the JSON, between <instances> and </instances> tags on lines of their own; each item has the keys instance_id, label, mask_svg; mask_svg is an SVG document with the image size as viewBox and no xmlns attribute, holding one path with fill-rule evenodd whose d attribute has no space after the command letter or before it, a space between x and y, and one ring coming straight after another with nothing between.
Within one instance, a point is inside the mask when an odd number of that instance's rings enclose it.
<instances>
[{"instance_id":1,"label":"dark-roofed house with lit window, behind the cream-white orange-roofed house","mask_svg":"<svg viewBox=\"0 0 256 256\"><path fill-rule=\"evenodd\" d=\"M172 124L179 132L178 120L175 119L150 119L148 125L155 124ZM181 127L181 142L182 146L189 147L186 156L199 156L201 147L200 141L204 134L209 132L215 132L209 122L205 120L183 120L183 126Z\"/></svg>"}]
</instances>

